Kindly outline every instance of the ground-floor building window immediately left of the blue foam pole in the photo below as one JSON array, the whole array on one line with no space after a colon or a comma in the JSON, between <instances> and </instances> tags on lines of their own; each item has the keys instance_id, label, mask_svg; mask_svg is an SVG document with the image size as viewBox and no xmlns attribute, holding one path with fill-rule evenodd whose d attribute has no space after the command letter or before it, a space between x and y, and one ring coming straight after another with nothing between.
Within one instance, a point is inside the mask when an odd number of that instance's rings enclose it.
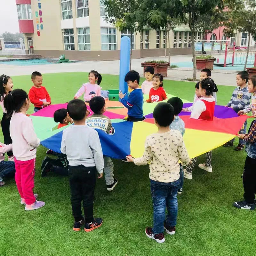
<instances>
[{"instance_id":1,"label":"ground-floor building window immediately left of the blue foam pole","mask_svg":"<svg viewBox=\"0 0 256 256\"><path fill-rule=\"evenodd\" d=\"M116 50L116 28L100 28L101 50Z\"/></svg>"}]
</instances>

